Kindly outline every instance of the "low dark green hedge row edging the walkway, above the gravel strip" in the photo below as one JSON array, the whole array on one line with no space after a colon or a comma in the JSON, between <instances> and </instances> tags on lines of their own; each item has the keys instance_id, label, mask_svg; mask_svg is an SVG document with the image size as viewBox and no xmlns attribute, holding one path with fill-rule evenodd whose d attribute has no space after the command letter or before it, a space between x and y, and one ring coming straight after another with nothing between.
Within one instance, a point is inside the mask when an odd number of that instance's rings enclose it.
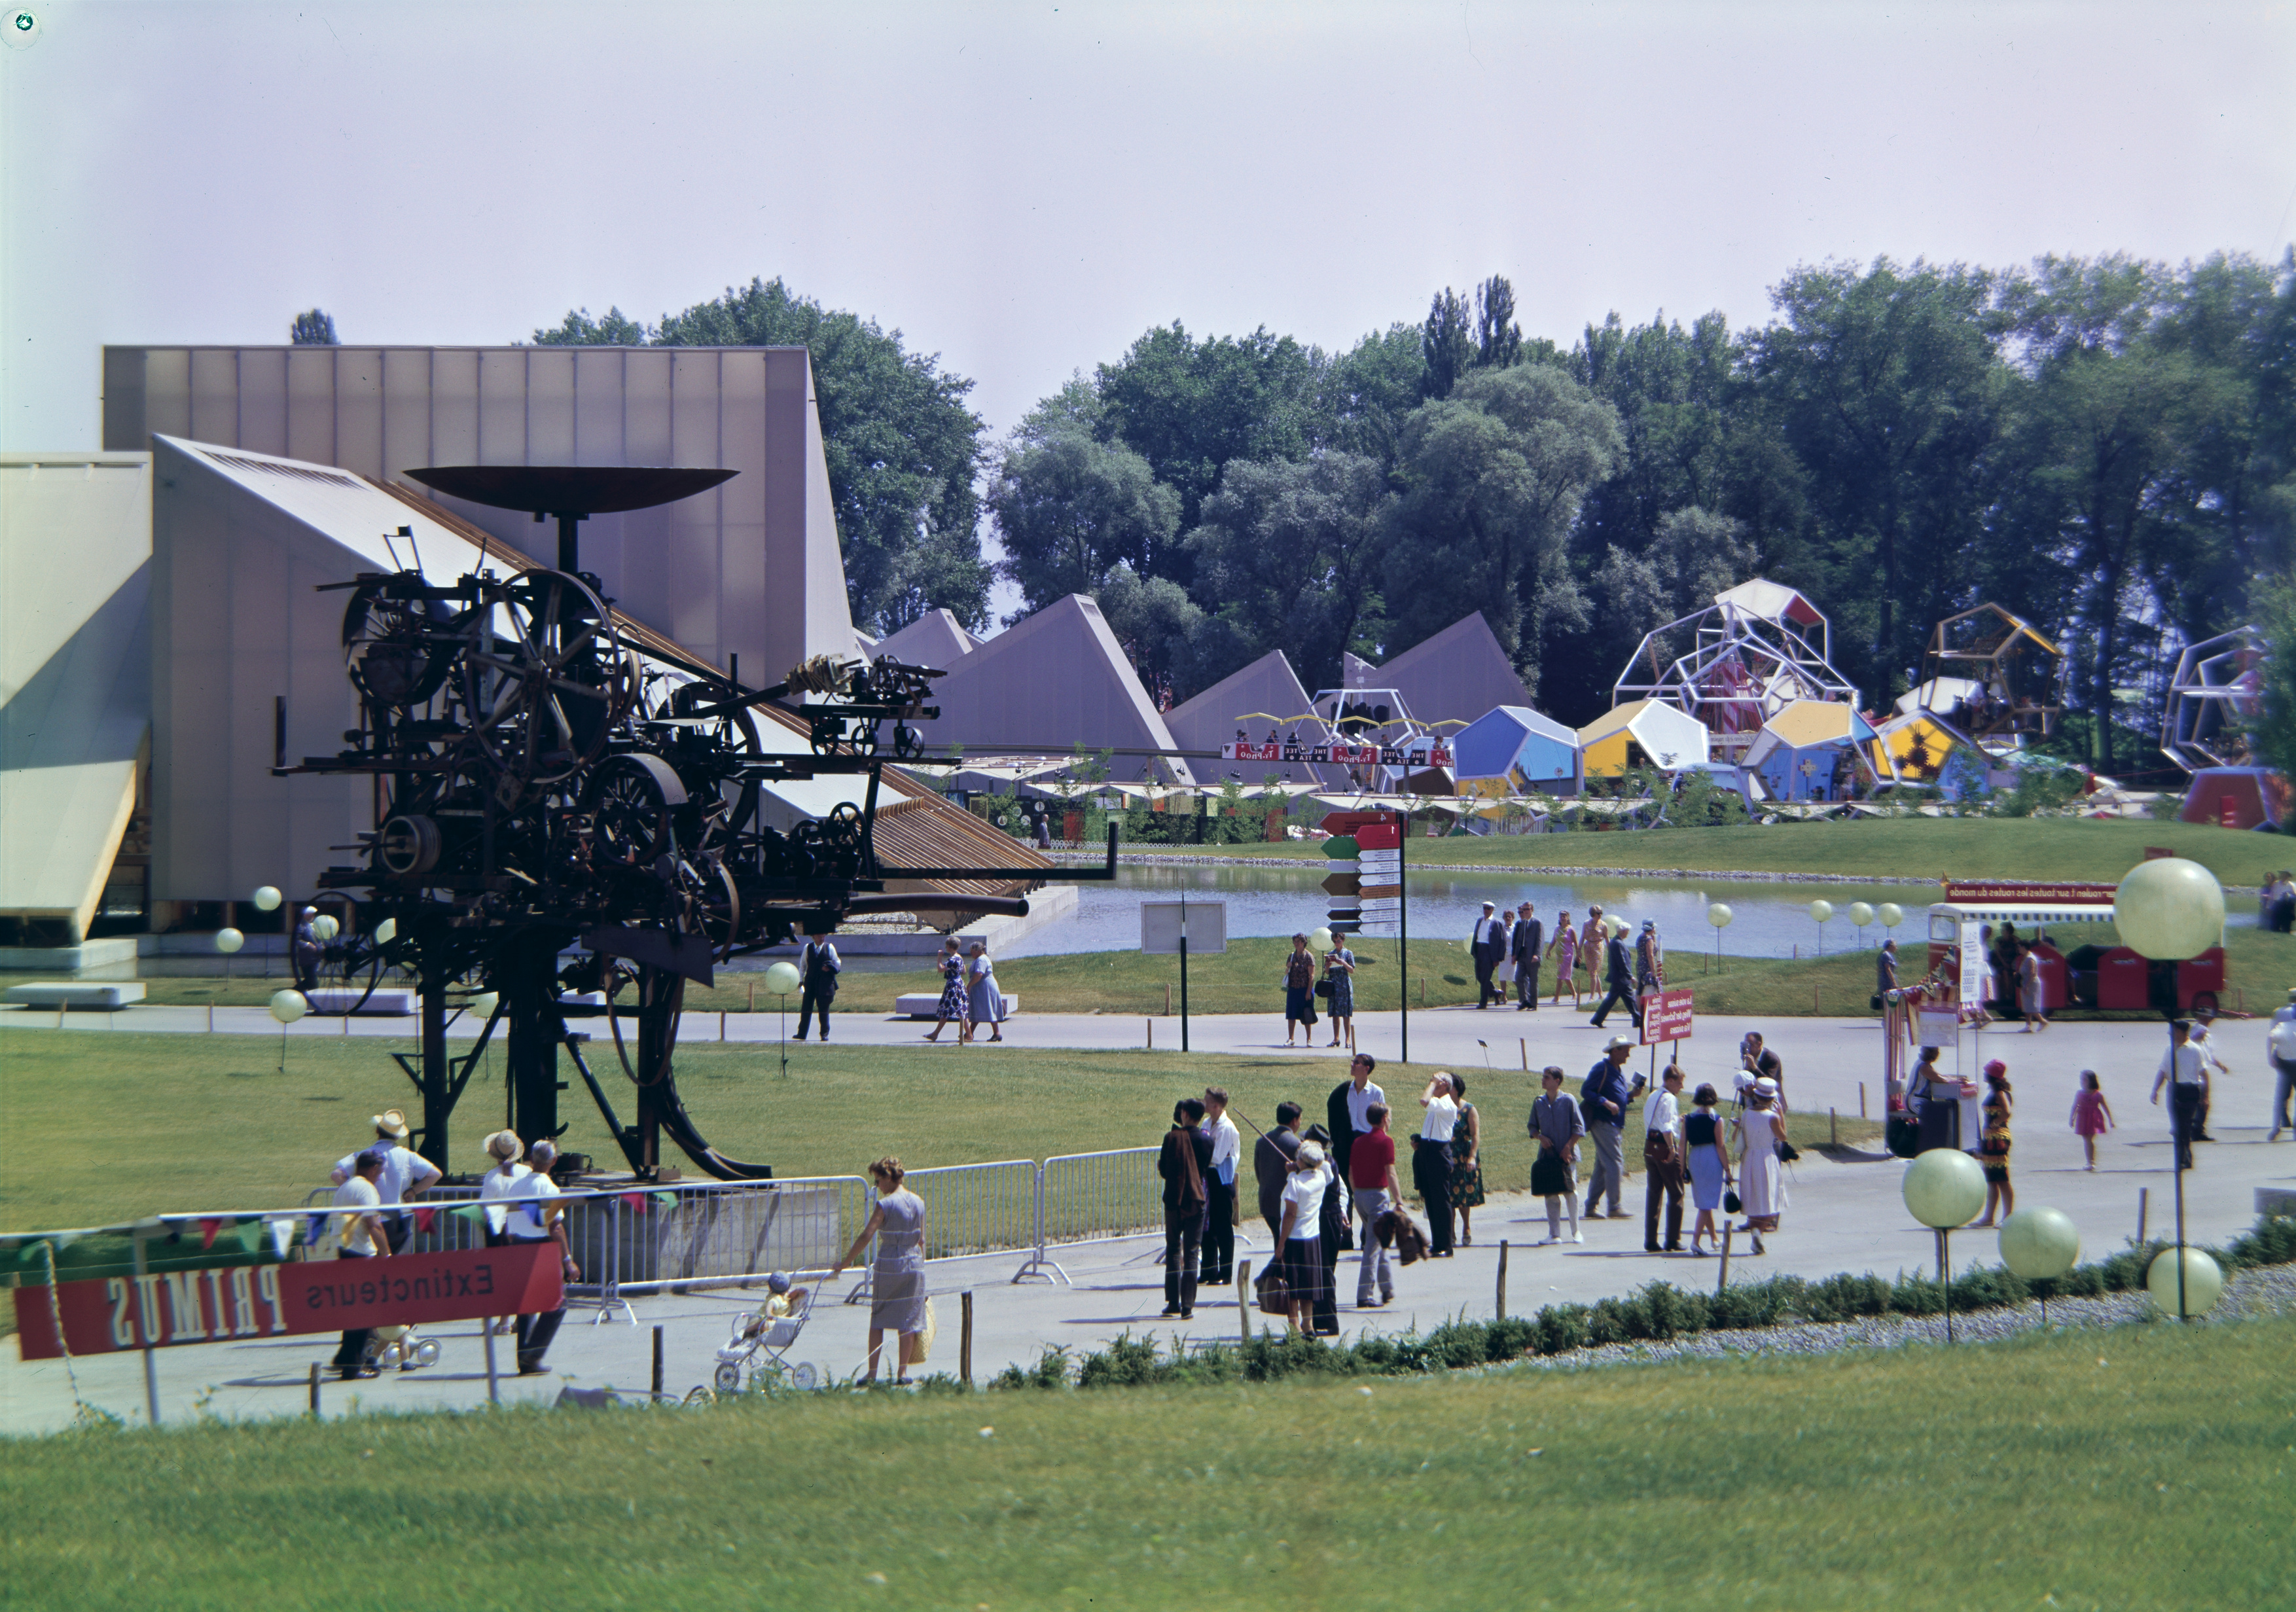
<instances>
[{"instance_id":1,"label":"low dark green hedge row edging the walkway, above the gravel strip","mask_svg":"<svg viewBox=\"0 0 2296 1612\"><path fill-rule=\"evenodd\" d=\"M2023 1281L1991 1265L1952 1281L1956 1313L2000 1309L2037 1297L2096 1297L2144 1286L2144 1272L2165 1242L2131 1245L2094 1265L2078 1265L2050 1281ZM2296 1217L2275 1215L2227 1249L2211 1249L2227 1268L2296 1263ZM1446 1320L1433 1332L1371 1334L1332 1346L1288 1332L1265 1332L1249 1343L1215 1341L1192 1353L1164 1355L1155 1339L1125 1334L1102 1350L1072 1357L1049 1346L1033 1369L1006 1366L992 1389L1132 1387L1141 1382L1267 1382L1290 1375L1417 1375L1458 1366L1511 1362L1527 1355L1566 1355L1603 1343L1665 1341L1697 1332L1855 1320L1860 1316L1936 1316L1947 1291L1931 1277L1770 1277L1694 1293L1653 1281L1628 1297L1596 1304L1548 1304L1536 1316Z\"/></svg>"}]
</instances>

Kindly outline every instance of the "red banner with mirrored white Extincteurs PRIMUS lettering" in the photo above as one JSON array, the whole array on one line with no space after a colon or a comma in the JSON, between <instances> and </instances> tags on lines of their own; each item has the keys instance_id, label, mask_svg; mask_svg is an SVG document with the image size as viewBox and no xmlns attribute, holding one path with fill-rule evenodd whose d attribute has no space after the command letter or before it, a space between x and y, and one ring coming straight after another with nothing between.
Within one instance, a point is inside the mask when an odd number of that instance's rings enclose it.
<instances>
[{"instance_id":1,"label":"red banner with mirrored white Extincteurs PRIMUS lettering","mask_svg":"<svg viewBox=\"0 0 2296 1612\"><path fill-rule=\"evenodd\" d=\"M422 1320L533 1316L565 1302L556 1242L455 1254L321 1258L165 1270L152 1277L16 1288L23 1359L55 1359L55 1311L73 1355L227 1343L287 1332L356 1332Z\"/></svg>"}]
</instances>

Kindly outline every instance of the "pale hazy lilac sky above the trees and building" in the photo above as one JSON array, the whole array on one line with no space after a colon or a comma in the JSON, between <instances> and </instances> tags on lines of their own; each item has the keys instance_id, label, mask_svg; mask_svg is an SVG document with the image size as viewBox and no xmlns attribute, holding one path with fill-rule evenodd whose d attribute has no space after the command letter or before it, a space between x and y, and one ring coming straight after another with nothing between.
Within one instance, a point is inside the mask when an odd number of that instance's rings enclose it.
<instances>
[{"instance_id":1,"label":"pale hazy lilac sky above the trees and building","mask_svg":"<svg viewBox=\"0 0 2296 1612\"><path fill-rule=\"evenodd\" d=\"M34 28L21 28L30 11ZM1155 324L1733 326L1830 259L2278 257L2296 5L230 5L0 28L0 448L106 342L510 342L753 276L1001 434Z\"/></svg>"}]
</instances>

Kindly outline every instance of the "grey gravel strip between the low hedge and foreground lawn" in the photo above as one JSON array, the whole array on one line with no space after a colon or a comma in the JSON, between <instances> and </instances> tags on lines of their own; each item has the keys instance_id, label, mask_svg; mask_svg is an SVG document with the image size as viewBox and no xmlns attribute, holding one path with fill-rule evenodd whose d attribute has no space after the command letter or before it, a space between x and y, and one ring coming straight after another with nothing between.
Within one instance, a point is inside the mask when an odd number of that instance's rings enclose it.
<instances>
[{"instance_id":1,"label":"grey gravel strip between the low hedge and foreground lawn","mask_svg":"<svg viewBox=\"0 0 2296 1612\"><path fill-rule=\"evenodd\" d=\"M2197 1325L2248 1320L2257 1316L2296 1313L2296 1265L2264 1265L2243 1270L2225 1284L2225 1295L2216 1309ZM2062 1327L2126 1327L2158 1316L2154 1302L2142 1293L2108 1293L2103 1297L2050 1300L2048 1325ZM2034 1332L2041 1325L2039 1304L2016 1309L1981 1309L1954 1316L1954 1339L1961 1343L1984 1343L2007 1339L2018 1332ZM1665 1343L1603 1343L1598 1348L1573 1350L1570 1355L1534 1355L1522 1362L1550 1371L1577 1371L1642 1359L1722 1359L1745 1355L1830 1355L1844 1348L1896 1348L1901 1343L1945 1343L1945 1316L1864 1316L1860 1320L1802 1323L1779 1327L1747 1327L1733 1332L1699 1332L1667 1339Z\"/></svg>"}]
</instances>

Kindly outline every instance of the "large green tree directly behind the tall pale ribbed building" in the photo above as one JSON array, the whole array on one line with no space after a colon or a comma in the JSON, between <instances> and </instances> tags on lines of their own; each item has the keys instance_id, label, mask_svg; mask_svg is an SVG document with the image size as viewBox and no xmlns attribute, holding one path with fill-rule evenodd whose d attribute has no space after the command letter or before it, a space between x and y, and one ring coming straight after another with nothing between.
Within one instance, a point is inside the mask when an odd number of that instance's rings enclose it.
<instances>
[{"instance_id":1,"label":"large green tree directly behind the tall pale ribbed building","mask_svg":"<svg viewBox=\"0 0 2296 1612\"><path fill-rule=\"evenodd\" d=\"M664 315L652 331L608 308L574 310L544 344L804 347L829 462L829 498L845 549L854 627L889 634L939 606L987 625L990 565L980 558L983 423L964 406L974 383L912 354L900 331L822 308L778 278Z\"/></svg>"}]
</instances>

